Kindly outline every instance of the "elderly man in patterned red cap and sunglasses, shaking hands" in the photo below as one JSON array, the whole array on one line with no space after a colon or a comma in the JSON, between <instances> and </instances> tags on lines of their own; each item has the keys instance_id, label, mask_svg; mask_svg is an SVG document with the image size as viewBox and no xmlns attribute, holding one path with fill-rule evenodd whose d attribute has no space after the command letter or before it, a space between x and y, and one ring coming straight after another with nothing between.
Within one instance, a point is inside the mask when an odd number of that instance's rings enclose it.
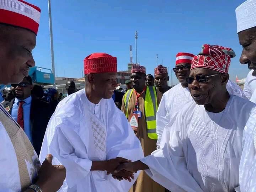
<instances>
[{"instance_id":1,"label":"elderly man in patterned red cap and sunglasses, shaking hands","mask_svg":"<svg viewBox=\"0 0 256 192\"><path fill-rule=\"evenodd\" d=\"M161 149L120 165L116 172L147 169L151 178L175 192L234 191L244 126L256 106L226 90L234 56L230 48L205 44L186 78L194 101L165 127Z\"/></svg>"}]
</instances>

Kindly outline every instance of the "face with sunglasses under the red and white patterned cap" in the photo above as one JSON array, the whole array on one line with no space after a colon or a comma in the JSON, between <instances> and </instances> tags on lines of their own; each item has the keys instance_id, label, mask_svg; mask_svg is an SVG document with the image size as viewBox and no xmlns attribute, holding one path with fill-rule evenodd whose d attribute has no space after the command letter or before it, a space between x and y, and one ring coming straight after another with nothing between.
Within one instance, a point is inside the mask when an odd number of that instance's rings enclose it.
<instances>
[{"instance_id":1,"label":"face with sunglasses under the red and white patterned cap","mask_svg":"<svg viewBox=\"0 0 256 192\"><path fill-rule=\"evenodd\" d=\"M194 68L191 69L189 76L196 78L198 75L213 75L218 73L218 71L211 69ZM209 104L218 98L219 92L222 91L222 75L224 74L209 77L206 82L202 83L194 79L191 84L188 84L190 94L198 105Z\"/></svg>"}]
</instances>

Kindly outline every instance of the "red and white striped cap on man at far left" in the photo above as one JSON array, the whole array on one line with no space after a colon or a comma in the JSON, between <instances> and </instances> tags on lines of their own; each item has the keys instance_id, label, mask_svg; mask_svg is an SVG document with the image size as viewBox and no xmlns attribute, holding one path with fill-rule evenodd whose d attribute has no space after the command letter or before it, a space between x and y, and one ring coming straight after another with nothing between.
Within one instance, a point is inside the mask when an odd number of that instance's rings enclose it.
<instances>
[{"instance_id":1,"label":"red and white striped cap on man at far left","mask_svg":"<svg viewBox=\"0 0 256 192\"><path fill-rule=\"evenodd\" d=\"M0 0L0 23L26 28L37 34L41 10L23 0Z\"/></svg>"}]
</instances>

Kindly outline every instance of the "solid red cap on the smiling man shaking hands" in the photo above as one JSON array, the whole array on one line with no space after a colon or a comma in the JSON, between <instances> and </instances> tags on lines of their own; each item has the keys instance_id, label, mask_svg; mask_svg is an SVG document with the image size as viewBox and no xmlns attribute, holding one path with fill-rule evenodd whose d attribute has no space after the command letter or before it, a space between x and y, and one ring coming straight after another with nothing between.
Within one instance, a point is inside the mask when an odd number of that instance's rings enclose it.
<instances>
[{"instance_id":1,"label":"solid red cap on the smiling man shaking hands","mask_svg":"<svg viewBox=\"0 0 256 192\"><path fill-rule=\"evenodd\" d=\"M92 53L84 59L84 73L116 73L117 58L107 53Z\"/></svg>"}]
</instances>

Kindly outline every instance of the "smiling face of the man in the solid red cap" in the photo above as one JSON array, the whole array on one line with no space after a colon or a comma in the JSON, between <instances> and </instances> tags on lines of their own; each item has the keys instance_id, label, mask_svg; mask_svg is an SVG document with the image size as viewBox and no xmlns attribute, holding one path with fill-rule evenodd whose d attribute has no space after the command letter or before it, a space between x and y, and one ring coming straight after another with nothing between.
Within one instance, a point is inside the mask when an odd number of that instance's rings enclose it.
<instances>
[{"instance_id":1,"label":"smiling face of the man in the solid red cap","mask_svg":"<svg viewBox=\"0 0 256 192\"><path fill-rule=\"evenodd\" d=\"M101 73L94 75L93 89L97 96L104 99L109 99L113 96L117 85L117 73Z\"/></svg>"}]
</instances>

